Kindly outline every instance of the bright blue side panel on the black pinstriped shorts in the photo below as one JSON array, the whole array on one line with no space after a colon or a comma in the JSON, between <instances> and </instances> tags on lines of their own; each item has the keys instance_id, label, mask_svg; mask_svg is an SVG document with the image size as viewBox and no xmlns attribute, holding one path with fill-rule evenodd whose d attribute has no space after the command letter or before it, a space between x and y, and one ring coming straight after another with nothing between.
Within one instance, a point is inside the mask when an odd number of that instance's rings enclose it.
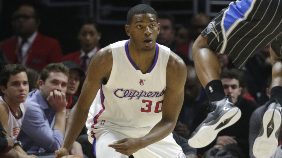
<instances>
[{"instance_id":1,"label":"bright blue side panel on the black pinstriped shorts","mask_svg":"<svg viewBox=\"0 0 282 158\"><path fill-rule=\"evenodd\" d=\"M244 17L244 14L251 6L251 3L252 0L242 0L236 1L235 3L230 3L229 10L226 12L223 23L225 32L227 32L227 30L237 19Z\"/></svg>"}]
</instances>

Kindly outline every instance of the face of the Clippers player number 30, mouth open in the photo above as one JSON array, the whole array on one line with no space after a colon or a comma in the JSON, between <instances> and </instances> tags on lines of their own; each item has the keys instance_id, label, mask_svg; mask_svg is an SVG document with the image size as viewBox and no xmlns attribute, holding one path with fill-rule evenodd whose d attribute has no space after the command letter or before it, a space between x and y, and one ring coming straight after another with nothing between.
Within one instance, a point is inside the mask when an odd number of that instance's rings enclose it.
<instances>
[{"instance_id":1,"label":"face of the Clippers player number 30, mouth open","mask_svg":"<svg viewBox=\"0 0 282 158\"><path fill-rule=\"evenodd\" d=\"M126 29L130 40L144 51L155 47L159 30L160 24L157 23L156 15L149 13L133 15L129 30Z\"/></svg>"}]
</instances>

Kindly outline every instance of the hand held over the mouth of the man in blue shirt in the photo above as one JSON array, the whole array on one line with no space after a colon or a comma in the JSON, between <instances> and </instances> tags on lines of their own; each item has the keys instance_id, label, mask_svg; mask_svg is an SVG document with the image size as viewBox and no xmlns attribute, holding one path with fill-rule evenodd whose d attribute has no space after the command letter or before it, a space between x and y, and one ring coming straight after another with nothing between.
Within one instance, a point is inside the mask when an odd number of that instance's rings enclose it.
<instances>
[{"instance_id":1,"label":"hand held over the mouth of the man in blue shirt","mask_svg":"<svg viewBox=\"0 0 282 158\"><path fill-rule=\"evenodd\" d=\"M64 110L67 105L66 94L56 89L53 92L50 92L47 101L51 107L54 107L55 110Z\"/></svg>"}]
</instances>

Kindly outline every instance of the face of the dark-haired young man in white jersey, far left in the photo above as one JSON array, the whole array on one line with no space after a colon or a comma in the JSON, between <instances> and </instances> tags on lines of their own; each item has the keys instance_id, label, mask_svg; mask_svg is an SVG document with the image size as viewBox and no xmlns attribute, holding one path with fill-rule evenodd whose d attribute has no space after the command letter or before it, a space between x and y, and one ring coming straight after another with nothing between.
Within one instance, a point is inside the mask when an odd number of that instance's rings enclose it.
<instances>
[{"instance_id":1,"label":"face of the dark-haired young man in white jersey, far left","mask_svg":"<svg viewBox=\"0 0 282 158\"><path fill-rule=\"evenodd\" d=\"M28 80L25 72L17 73L16 75L10 75L10 79L7 82L7 88L1 86L1 90L4 96L17 103L22 103L27 98L28 94Z\"/></svg>"}]
</instances>

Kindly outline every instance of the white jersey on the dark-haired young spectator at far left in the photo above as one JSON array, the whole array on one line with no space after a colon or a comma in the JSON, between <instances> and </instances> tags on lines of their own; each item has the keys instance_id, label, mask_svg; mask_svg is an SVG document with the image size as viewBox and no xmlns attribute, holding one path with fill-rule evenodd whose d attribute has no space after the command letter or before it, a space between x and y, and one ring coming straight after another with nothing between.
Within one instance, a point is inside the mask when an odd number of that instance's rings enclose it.
<instances>
[{"instance_id":1,"label":"white jersey on the dark-haired young spectator at far left","mask_svg":"<svg viewBox=\"0 0 282 158\"><path fill-rule=\"evenodd\" d=\"M14 141L16 141L17 136L21 131L21 123L23 122L23 117L25 116L25 105L23 105L23 103L19 105L19 109L21 110L21 116L17 117L16 114L11 110L9 105L6 103L6 101L3 99L3 96L0 97L0 101L3 101L9 110L9 119L6 133L10 137L12 137Z\"/></svg>"}]
</instances>

